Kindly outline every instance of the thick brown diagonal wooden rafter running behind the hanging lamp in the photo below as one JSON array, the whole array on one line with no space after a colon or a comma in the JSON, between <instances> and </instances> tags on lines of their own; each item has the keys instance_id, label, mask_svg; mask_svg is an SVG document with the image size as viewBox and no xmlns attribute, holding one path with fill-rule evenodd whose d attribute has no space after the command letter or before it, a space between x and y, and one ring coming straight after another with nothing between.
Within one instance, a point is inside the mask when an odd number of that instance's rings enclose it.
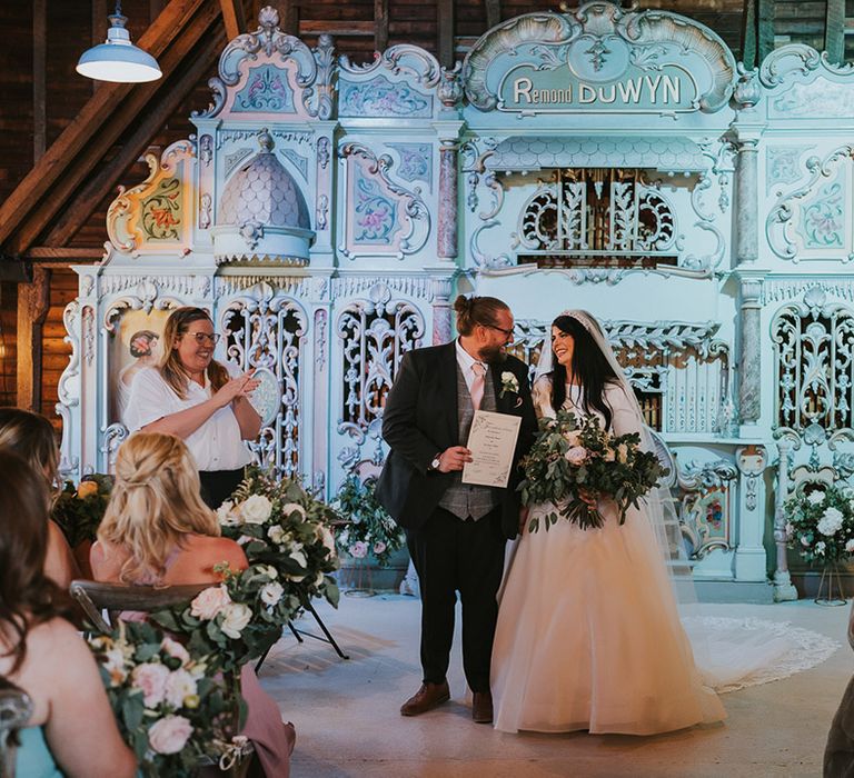
<instances>
[{"instance_id":1,"label":"thick brown diagonal wooden rafter running behind the hanging lamp","mask_svg":"<svg viewBox=\"0 0 854 778\"><path fill-rule=\"evenodd\" d=\"M0 207L0 245L7 252L32 246L133 118L152 104L162 82L192 48L187 37L198 39L219 13L212 0L172 0L163 9L138 42L159 60L163 79L98 89Z\"/></svg>"}]
</instances>

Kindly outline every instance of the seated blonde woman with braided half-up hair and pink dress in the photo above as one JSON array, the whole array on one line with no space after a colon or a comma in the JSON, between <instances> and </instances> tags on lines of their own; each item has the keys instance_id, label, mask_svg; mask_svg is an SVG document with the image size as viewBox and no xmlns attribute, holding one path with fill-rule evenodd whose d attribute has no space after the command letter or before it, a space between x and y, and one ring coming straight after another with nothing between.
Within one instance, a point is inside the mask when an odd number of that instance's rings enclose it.
<instances>
[{"instance_id":1,"label":"seated blonde woman with braided half-up hair and pink dress","mask_svg":"<svg viewBox=\"0 0 854 778\"><path fill-rule=\"evenodd\" d=\"M181 440L132 435L116 459L116 485L92 547L95 579L127 585L218 584L214 566L248 567L244 550L219 537L214 511L199 497L199 476ZM288 776L294 726L258 685L251 667L240 677L248 707L244 735L255 744L268 778Z\"/></svg>"}]
</instances>

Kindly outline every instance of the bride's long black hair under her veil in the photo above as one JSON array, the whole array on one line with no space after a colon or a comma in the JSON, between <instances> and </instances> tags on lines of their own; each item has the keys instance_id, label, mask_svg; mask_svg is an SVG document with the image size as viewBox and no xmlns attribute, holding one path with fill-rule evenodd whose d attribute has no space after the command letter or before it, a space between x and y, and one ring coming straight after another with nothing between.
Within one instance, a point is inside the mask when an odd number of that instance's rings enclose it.
<instances>
[{"instance_id":1,"label":"bride's long black hair under her veil","mask_svg":"<svg viewBox=\"0 0 854 778\"><path fill-rule=\"evenodd\" d=\"M610 427L612 411L605 402L605 387L609 382L617 382L617 376L610 367L602 349L598 347L587 328L572 316L558 316L552 322L565 335L573 338L572 378L583 389L582 402L585 412L597 410L605 417L605 429ZM552 331L548 333L549 345ZM552 351L552 407L556 410L566 401L566 368L557 361L557 356Z\"/></svg>"}]
</instances>

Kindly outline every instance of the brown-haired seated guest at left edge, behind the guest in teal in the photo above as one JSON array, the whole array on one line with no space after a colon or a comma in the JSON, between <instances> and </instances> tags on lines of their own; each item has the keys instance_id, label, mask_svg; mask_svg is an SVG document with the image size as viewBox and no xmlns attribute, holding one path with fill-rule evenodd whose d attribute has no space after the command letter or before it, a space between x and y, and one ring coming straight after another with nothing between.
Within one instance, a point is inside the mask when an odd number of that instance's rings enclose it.
<instances>
[{"instance_id":1,"label":"brown-haired seated guest at left edge, behind the guest in teal","mask_svg":"<svg viewBox=\"0 0 854 778\"><path fill-rule=\"evenodd\" d=\"M59 496L59 450L53 428L41 413L20 408L0 408L0 448L8 448L43 475L48 506ZM62 589L80 578L77 562L62 530L48 520L48 551L44 575Z\"/></svg>"}]
</instances>

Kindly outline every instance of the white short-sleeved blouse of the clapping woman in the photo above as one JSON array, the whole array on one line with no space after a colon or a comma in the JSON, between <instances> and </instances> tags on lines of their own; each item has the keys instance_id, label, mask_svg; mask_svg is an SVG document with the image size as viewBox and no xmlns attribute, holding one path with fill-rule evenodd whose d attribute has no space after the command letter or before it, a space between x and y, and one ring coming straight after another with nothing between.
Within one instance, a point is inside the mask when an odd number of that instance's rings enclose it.
<instances>
[{"instance_id":1,"label":"white short-sleeved blouse of the clapping woman","mask_svg":"<svg viewBox=\"0 0 854 778\"><path fill-rule=\"evenodd\" d=\"M231 378L239 375L234 366L227 363L225 367ZM156 368L146 368L133 377L130 400L125 409L125 426L136 432L158 419L205 402L211 393L206 375L203 387L189 381L187 399L182 400ZM199 470L237 470L254 459L240 439L240 425L230 403L217 410L183 442L190 449Z\"/></svg>"}]
</instances>

